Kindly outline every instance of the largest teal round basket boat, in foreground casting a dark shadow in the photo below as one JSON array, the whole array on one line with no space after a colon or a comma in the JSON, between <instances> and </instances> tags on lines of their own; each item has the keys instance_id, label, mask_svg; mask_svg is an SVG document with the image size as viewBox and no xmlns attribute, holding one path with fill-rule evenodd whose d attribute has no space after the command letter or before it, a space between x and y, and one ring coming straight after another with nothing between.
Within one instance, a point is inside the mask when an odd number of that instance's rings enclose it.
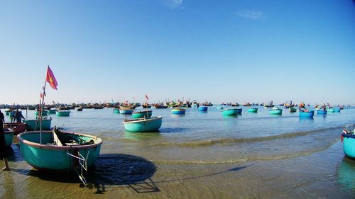
<instances>
[{"instance_id":1,"label":"largest teal round basket boat, in foreground casting a dark shadow","mask_svg":"<svg viewBox=\"0 0 355 199\"><path fill-rule=\"evenodd\" d=\"M41 136L38 131L23 132L17 138L23 159L33 168L46 171L73 171L80 164L89 168L102 144L99 137L73 132L43 131Z\"/></svg>"}]
</instances>

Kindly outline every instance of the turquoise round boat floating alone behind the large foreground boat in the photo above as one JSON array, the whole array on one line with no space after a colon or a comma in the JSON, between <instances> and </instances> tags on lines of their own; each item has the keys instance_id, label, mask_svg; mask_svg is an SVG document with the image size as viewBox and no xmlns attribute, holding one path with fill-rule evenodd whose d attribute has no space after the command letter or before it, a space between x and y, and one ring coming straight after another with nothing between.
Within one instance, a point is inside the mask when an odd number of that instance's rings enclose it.
<instances>
[{"instance_id":1,"label":"turquoise round boat floating alone behind the large foreground boat","mask_svg":"<svg viewBox=\"0 0 355 199\"><path fill-rule=\"evenodd\" d=\"M162 116L125 120L124 129L129 132L156 132L161 127Z\"/></svg>"}]
</instances>

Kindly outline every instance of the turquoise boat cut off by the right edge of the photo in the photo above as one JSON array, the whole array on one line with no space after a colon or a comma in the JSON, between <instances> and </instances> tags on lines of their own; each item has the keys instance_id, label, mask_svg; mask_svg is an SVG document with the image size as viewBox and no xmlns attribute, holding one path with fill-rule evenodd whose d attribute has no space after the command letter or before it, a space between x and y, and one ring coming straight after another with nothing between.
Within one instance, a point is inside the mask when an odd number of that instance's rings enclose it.
<instances>
[{"instance_id":1,"label":"turquoise boat cut off by the right edge of the photo","mask_svg":"<svg viewBox=\"0 0 355 199\"><path fill-rule=\"evenodd\" d=\"M348 130L348 127L354 127L354 125L346 125L342 133L342 142L344 154L355 159L355 130Z\"/></svg>"}]
</instances>

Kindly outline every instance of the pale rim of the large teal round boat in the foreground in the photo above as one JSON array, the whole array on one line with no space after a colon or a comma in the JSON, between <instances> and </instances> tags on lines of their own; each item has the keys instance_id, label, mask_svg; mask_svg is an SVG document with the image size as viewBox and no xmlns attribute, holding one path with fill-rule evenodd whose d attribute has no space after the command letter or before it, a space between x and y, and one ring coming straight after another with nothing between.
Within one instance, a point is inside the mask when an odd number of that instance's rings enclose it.
<instances>
[{"instance_id":1,"label":"pale rim of the large teal round boat in the foreground","mask_svg":"<svg viewBox=\"0 0 355 199\"><path fill-rule=\"evenodd\" d=\"M44 133L52 133L50 130L42 131ZM77 145L77 146L55 146L55 145L48 145L48 144L39 144L36 142L31 142L28 140L24 140L21 135L28 135L28 134L38 134L39 131L28 131L28 132L21 132L20 134L17 135L18 142L21 142L23 144L26 144L31 147L39 148L39 149L57 149L57 150L62 150L62 149L87 149L87 148L92 148L92 147L97 147L104 142L100 137L93 136L93 135L87 135L87 134L82 134L82 133L77 133L77 132L63 132L65 134L70 134L70 135L82 135L84 137L90 137L92 139L98 140L98 143L94 144L87 144L87 145Z\"/></svg>"}]
</instances>

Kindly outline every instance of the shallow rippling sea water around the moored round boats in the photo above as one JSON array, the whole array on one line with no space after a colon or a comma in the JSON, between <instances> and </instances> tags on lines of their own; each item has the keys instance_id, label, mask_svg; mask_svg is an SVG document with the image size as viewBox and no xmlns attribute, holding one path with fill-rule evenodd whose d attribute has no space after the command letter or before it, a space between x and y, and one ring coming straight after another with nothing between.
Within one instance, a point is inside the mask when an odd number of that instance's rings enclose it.
<instances>
[{"instance_id":1,"label":"shallow rippling sea water around the moored round boats","mask_svg":"<svg viewBox=\"0 0 355 199\"><path fill-rule=\"evenodd\" d=\"M1 172L0 192L6 198L353 197L354 160L344 158L339 140L342 127L355 123L355 109L313 119L287 109L283 115L262 106L258 113L243 109L226 117L214 106L188 108L185 115L153 108L153 116L163 116L158 133L125 132L122 121L130 117L112 108L51 115L53 126L103 138L102 155L87 174L94 188L79 188L75 174L35 171L13 144L13 170Z\"/></svg>"}]
</instances>

